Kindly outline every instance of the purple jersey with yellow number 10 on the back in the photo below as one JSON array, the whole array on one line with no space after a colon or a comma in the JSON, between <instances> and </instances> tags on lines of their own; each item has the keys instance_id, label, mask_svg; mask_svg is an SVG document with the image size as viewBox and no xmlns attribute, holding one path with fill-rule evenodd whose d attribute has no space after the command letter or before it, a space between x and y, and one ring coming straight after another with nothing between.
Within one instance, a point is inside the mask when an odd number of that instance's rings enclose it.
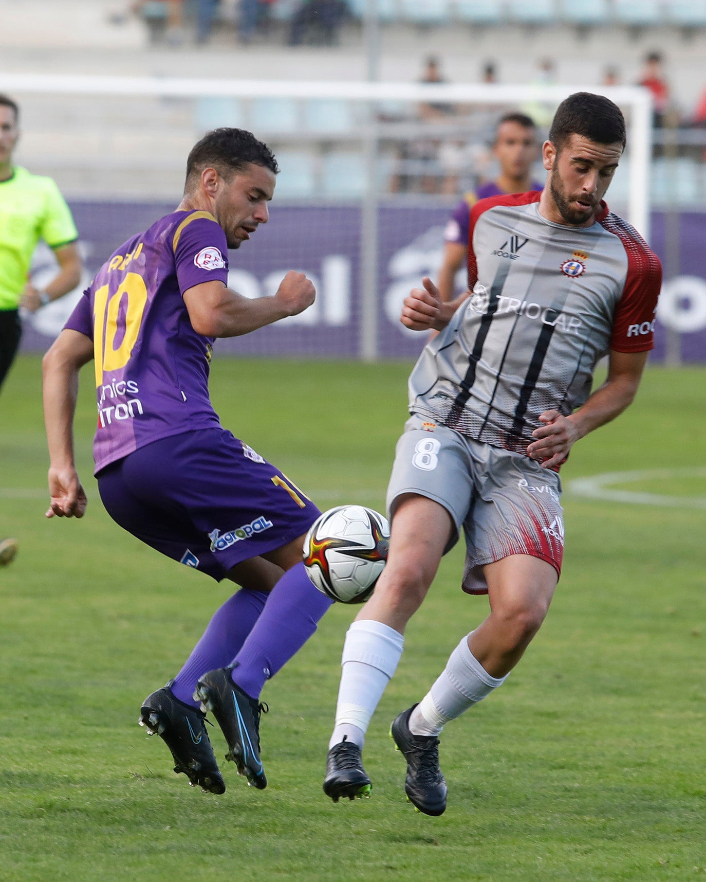
<instances>
[{"instance_id":1,"label":"purple jersey with yellow number 10 on the back","mask_svg":"<svg viewBox=\"0 0 706 882\"><path fill-rule=\"evenodd\" d=\"M159 438L220 425L208 393L213 339L194 331L182 294L227 284L227 253L211 214L167 214L100 267L64 325L93 340L96 473Z\"/></svg>"}]
</instances>

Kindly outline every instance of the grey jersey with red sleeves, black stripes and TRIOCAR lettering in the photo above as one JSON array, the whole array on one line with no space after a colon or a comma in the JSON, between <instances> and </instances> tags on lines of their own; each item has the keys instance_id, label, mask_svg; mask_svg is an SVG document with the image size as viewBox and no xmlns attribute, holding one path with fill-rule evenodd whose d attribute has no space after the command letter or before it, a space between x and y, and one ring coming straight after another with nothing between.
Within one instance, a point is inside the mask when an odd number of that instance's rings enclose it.
<instances>
[{"instance_id":1,"label":"grey jersey with red sleeves, black stripes and TRIOCAR lettering","mask_svg":"<svg viewBox=\"0 0 706 882\"><path fill-rule=\"evenodd\" d=\"M602 204L591 227L539 214L539 192L472 208L472 295L420 355L410 411L524 453L539 415L569 415L591 393L609 350L654 345L662 269L626 221Z\"/></svg>"}]
</instances>

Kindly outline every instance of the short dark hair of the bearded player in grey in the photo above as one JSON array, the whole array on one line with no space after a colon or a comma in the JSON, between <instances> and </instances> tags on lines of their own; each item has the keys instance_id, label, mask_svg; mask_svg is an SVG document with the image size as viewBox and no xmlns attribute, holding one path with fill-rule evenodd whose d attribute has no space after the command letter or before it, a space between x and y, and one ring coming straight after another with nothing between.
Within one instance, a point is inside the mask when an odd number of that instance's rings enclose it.
<instances>
[{"instance_id":1,"label":"short dark hair of the bearded player in grey","mask_svg":"<svg viewBox=\"0 0 706 882\"><path fill-rule=\"evenodd\" d=\"M575 92L556 109L549 140L557 151L571 135L583 135L597 144L626 145L625 117L621 108L604 95Z\"/></svg>"}]
</instances>

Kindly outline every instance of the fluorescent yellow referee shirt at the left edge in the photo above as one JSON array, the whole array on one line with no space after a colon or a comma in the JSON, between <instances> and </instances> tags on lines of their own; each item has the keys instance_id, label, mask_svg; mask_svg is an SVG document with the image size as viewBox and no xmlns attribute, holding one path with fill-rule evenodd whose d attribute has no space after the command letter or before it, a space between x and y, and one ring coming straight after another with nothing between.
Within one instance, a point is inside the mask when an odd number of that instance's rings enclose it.
<instances>
[{"instance_id":1,"label":"fluorescent yellow referee shirt at the left edge","mask_svg":"<svg viewBox=\"0 0 706 882\"><path fill-rule=\"evenodd\" d=\"M0 310L18 308L40 239L61 248L78 232L56 183L15 166L11 178L0 181Z\"/></svg>"}]
</instances>

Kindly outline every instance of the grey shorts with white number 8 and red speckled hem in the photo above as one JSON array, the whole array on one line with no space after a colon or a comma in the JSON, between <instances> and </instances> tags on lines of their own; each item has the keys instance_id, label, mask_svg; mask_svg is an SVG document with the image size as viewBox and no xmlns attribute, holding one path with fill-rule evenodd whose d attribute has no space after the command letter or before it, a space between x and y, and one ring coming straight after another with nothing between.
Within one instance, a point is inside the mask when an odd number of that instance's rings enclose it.
<instances>
[{"instance_id":1,"label":"grey shorts with white number 8 and red speckled hem","mask_svg":"<svg viewBox=\"0 0 706 882\"><path fill-rule=\"evenodd\" d=\"M456 530L444 553L463 527L463 588L469 594L487 594L484 565L509 555L540 557L561 573L561 481L535 460L412 415L395 452L390 518L407 493L433 499L450 513Z\"/></svg>"}]
</instances>

